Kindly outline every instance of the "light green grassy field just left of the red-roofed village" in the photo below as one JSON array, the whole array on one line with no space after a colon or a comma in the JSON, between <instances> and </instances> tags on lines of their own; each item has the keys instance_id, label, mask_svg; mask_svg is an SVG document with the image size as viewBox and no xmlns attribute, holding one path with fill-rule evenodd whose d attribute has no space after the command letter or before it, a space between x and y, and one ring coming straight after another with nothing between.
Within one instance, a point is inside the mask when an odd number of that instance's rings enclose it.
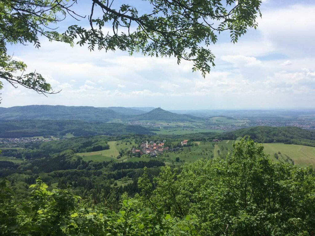
<instances>
[{"instance_id":1,"label":"light green grassy field just left of the red-roofed village","mask_svg":"<svg viewBox=\"0 0 315 236\"><path fill-rule=\"evenodd\" d=\"M120 150L130 150L133 145L135 145L135 142L132 140L131 144L128 142L122 142L122 141L109 141L109 149L97 151L97 152L84 152L84 153L78 153L77 155L80 155L83 157L84 160L93 160L93 161L121 161L124 160L126 157L123 157L121 159L117 159L117 156L119 155Z\"/></svg>"}]
</instances>

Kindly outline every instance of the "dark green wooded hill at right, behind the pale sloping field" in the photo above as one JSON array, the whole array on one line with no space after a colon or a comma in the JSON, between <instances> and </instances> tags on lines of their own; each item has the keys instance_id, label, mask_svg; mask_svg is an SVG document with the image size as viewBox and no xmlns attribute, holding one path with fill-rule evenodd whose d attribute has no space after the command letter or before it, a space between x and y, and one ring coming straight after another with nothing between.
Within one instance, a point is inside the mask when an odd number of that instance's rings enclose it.
<instances>
[{"instance_id":1,"label":"dark green wooded hill at right, behind the pale sloping field","mask_svg":"<svg viewBox=\"0 0 315 236\"><path fill-rule=\"evenodd\" d=\"M223 139L237 139L249 135L260 143L288 143L315 147L315 132L299 127L256 126L223 133Z\"/></svg>"}]
</instances>

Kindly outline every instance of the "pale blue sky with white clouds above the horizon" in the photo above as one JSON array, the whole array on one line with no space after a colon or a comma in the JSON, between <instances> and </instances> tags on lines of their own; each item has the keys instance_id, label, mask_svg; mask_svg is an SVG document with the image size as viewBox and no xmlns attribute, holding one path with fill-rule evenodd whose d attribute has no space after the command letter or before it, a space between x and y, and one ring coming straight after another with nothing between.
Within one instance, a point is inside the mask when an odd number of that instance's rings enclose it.
<instances>
[{"instance_id":1,"label":"pale blue sky with white clouds above the horizon","mask_svg":"<svg viewBox=\"0 0 315 236\"><path fill-rule=\"evenodd\" d=\"M134 3L146 10L143 1ZM79 1L76 8L88 15L90 3ZM177 65L175 58L89 52L45 38L39 49L9 46L8 53L23 60L29 71L41 73L55 91L62 91L46 98L4 82L1 106L315 108L315 1L264 0L261 13L257 30L250 29L237 44L222 34L210 46L215 67L205 78L192 72L190 62ZM68 19L63 24L78 23ZM88 22L83 19L79 24Z\"/></svg>"}]
</instances>

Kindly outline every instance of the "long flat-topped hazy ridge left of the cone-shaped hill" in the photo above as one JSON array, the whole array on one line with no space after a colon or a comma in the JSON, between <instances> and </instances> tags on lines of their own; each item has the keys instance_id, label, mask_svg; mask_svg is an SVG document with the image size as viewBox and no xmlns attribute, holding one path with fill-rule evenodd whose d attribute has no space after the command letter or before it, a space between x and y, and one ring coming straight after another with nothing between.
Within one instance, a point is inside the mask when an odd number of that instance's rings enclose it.
<instances>
[{"instance_id":1,"label":"long flat-topped hazy ridge left of the cone-shaped hill","mask_svg":"<svg viewBox=\"0 0 315 236\"><path fill-rule=\"evenodd\" d=\"M31 105L0 108L0 120L84 120L112 121L124 115L111 109L100 109L89 106L50 106Z\"/></svg>"}]
</instances>

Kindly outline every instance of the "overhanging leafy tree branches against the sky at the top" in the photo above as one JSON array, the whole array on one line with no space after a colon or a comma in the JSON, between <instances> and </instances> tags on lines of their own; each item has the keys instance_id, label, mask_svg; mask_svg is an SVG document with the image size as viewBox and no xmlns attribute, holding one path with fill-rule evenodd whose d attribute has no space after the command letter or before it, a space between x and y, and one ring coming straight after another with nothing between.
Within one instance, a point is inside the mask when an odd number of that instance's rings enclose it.
<instances>
[{"instance_id":1,"label":"overhanging leafy tree branches against the sky at the top","mask_svg":"<svg viewBox=\"0 0 315 236\"><path fill-rule=\"evenodd\" d=\"M60 33L57 25L66 16L81 16L73 11L77 0L4 0L0 3L0 78L11 85L21 85L37 93L55 93L43 76L26 73L26 64L7 54L7 44L31 43L40 47L39 37L49 40L88 45L106 51L128 51L192 61L192 70L205 76L214 66L215 56L209 49L222 31L229 31L231 41L257 27L261 0L146 0L151 10L140 14L133 1L114 7L110 0L90 0L90 28L71 25ZM144 3L139 3L144 4ZM95 12L100 12L101 15ZM107 32L107 27L111 32ZM203 46L204 45L204 46ZM0 82L0 89L3 83Z\"/></svg>"}]
</instances>

